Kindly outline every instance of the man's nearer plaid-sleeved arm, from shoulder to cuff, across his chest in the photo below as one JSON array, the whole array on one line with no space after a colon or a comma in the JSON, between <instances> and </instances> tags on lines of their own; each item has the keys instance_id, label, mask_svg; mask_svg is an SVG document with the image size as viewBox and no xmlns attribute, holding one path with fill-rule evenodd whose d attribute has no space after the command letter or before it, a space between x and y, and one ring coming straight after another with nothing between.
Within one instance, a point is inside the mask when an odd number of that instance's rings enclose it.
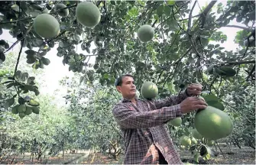
<instances>
[{"instance_id":1,"label":"man's nearer plaid-sleeved arm, from shoulder to cuff, across his chest","mask_svg":"<svg viewBox=\"0 0 256 165\"><path fill-rule=\"evenodd\" d=\"M125 105L115 105L112 110L115 120L121 128L151 128L163 125L172 118L182 115L180 105L163 107L150 112L136 112Z\"/></svg>"}]
</instances>

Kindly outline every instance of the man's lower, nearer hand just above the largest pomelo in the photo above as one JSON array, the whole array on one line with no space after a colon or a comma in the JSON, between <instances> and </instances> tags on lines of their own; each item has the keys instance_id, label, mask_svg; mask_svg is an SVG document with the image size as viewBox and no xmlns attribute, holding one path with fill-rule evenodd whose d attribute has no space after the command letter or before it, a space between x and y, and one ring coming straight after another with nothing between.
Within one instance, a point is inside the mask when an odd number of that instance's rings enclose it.
<instances>
[{"instance_id":1,"label":"man's lower, nearer hand just above the largest pomelo","mask_svg":"<svg viewBox=\"0 0 256 165\"><path fill-rule=\"evenodd\" d=\"M180 109L183 114L193 112L197 109L204 109L207 103L204 99L199 97L188 97L180 103Z\"/></svg>"}]
</instances>

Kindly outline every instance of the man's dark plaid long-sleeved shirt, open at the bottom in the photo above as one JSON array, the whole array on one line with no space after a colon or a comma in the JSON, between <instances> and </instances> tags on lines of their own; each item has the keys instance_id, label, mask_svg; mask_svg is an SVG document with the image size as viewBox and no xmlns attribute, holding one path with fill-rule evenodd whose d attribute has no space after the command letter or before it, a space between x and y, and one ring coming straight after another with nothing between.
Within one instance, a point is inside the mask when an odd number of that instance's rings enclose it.
<instances>
[{"instance_id":1,"label":"man's dark plaid long-sleeved shirt, open at the bottom","mask_svg":"<svg viewBox=\"0 0 256 165\"><path fill-rule=\"evenodd\" d=\"M137 106L122 99L112 112L125 137L125 164L157 164L159 152L168 164L182 164L166 123L180 117L180 102L186 92L160 100L137 100Z\"/></svg>"}]
</instances>

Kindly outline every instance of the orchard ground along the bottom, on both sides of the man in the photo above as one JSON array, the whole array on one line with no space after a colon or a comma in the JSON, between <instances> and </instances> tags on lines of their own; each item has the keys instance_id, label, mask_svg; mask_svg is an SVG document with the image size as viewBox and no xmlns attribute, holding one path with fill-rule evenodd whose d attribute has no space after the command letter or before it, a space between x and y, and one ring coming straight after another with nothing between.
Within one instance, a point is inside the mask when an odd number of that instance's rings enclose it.
<instances>
[{"instance_id":1,"label":"orchard ground along the bottom, on both sides of the man","mask_svg":"<svg viewBox=\"0 0 256 165\"><path fill-rule=\"evenodd\" d=\"M214 148L214 147L213 147ZM241 149L238 147L228 147L226 145L222 145L221 147L222 153L220 150L216 150L219 155L215 158L210 158L210 160L206 161L202 158L199 158L199 164L255 164L255 150L251 147L242 146ZM197 164L193 160L193 155L189 150L180 150L177 149L180 153L181 160L183 163L193 163ZM91 153L90 150L76 150L75 153L71 153L68 151L62 157L60 153L56 157L49 157L47 155L43 155L42 160L33 159L30 154L24 154L21 156L11 155L7 157L2 157L2 164L6 163L23 163L23 164L122 164L124 155L121 154L118 157L118 160L114 160L109 158L108 155L102 153Z\"/></svg>"}]
</instances>

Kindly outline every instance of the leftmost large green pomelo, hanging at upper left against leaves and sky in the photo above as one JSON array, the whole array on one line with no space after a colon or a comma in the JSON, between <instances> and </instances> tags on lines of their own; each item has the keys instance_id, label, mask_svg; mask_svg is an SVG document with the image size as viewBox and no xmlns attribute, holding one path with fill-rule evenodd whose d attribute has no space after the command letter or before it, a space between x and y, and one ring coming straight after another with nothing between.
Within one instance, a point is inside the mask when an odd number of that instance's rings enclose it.
<instances>
[{"instance_id":1,"label":"leftmost large green pomelo, hanging at upper left against leaves and sky","mask_svg":"<svg viewBox=\"0 0 256 165\"><path fill-rule=\"evenodd\" d=\"M60 24L52 15L37 15L34 18L34 31L41 37L50 39L60 33Z\"/></svg>"}]
</instances>

